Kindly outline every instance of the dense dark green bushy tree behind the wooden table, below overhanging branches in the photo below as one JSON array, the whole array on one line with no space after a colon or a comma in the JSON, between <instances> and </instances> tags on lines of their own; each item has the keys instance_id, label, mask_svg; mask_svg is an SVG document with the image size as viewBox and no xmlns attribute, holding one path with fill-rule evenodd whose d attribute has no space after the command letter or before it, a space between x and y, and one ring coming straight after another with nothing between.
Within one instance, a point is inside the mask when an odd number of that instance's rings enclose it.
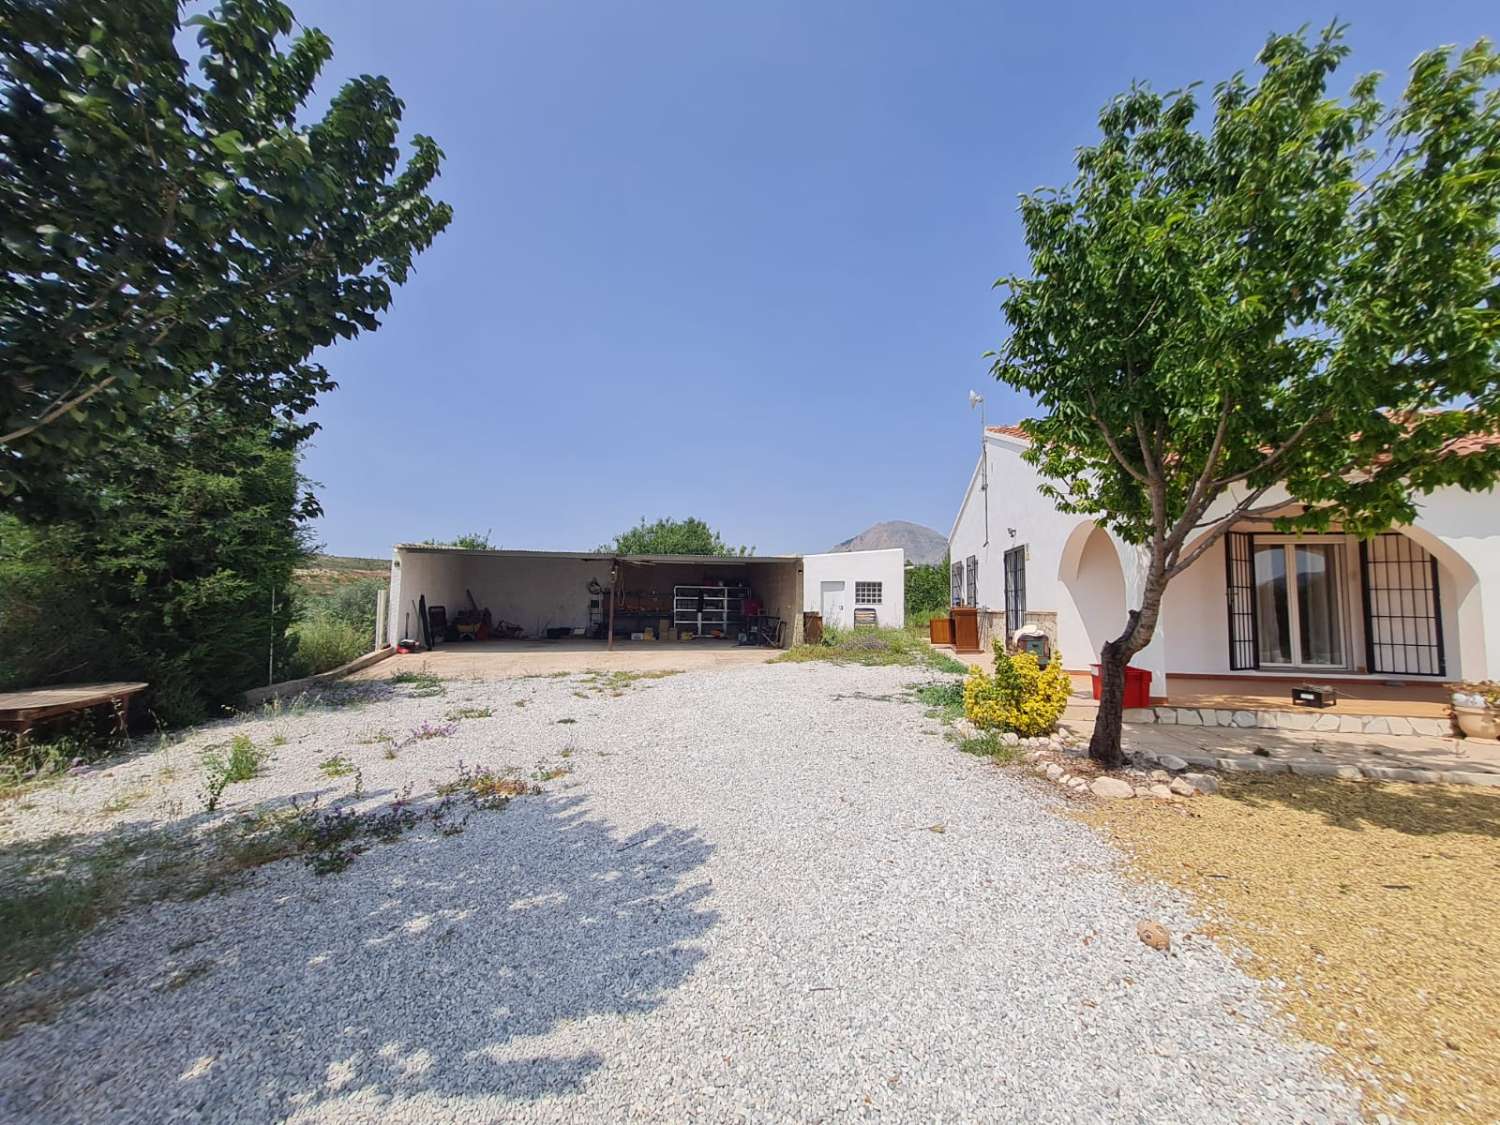
<instances>
[{"instance_id":1,"label":"dense dark green bushy tree behind the wooden table, below overhanging branches","mask_svg":"<svg viewBox=\"0 0 1500 1125\"><path fill-rule=\"evenodd\" d=\"M177 724L292 666L292 570L316 506L267 426L198 432L117 446L88 518L4 518L0 686L146 680Z\"/></svg>"}]
</instances>

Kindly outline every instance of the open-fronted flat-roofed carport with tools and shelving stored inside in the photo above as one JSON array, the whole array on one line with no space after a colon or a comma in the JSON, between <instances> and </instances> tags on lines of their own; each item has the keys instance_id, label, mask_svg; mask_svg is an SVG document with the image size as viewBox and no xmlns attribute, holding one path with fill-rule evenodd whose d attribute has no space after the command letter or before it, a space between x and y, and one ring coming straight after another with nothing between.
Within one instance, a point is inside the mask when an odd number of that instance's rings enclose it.
<instances>
[{"instance_id":1,"label":"open-fronted flat-roofed carport with tools and shelving stored inside","mask_svg":"<svg viewBox=\"0 0 1500 1125\"><path fill-rule=\"evenodd\" d=\"M394 549L388 638L422 639L422 608L453 624L483 615L476 656L538 644L598 651L616 645L780 646L801 639L802 560L796 555L612 555L476 550L428 543ZM468 622L465 622L468 624ZM486 640L488 638L488 640Z\"/></svg>"}]
</instances>

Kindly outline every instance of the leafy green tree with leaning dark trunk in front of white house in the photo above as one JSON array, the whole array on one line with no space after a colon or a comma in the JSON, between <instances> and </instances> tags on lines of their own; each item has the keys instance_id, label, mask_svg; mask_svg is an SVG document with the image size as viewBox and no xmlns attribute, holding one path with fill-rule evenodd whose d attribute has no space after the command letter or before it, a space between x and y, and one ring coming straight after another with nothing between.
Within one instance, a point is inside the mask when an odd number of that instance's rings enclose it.
<instances>
[{"instance_id":1,"label":"leafy green tree with leaning dark trunk in front of white house","mask_svg":"<svg viewBox=\"0 0 1500 1125\"><path fill-rule=\"evenodd\" d=\"M1056 506L1143 560L1096 760L1122 759L1122 669L1167 584L1234 520L1368 536L1500 474L1500 448L1449 454L1500 423L1500 57L1428 51L1388 110L1377 75L1328 93L1346 56L1340 27L1272 36L1206 128L1191 90L1136 86L1072 184L1022 200L993 374L1040 408Z\"/></svg>"}]
</instances>

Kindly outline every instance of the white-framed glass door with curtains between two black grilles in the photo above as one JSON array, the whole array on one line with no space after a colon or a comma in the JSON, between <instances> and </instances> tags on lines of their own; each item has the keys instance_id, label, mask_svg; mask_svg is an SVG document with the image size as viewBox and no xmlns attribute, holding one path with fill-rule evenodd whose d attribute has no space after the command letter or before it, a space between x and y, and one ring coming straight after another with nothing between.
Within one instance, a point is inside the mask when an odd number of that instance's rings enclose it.
<instances>
[{"instance_id":1,"label":"white-framed glass door with curtains between two black grilles","mask_svg":"<svg viewBox=\"0 0 1500 1125\"><path fill-rule=\"evenodd\" d=\"M1256 627L1262 666L1344 668L1338 543L1256 538Z\"/></svg>"}]
</instances>

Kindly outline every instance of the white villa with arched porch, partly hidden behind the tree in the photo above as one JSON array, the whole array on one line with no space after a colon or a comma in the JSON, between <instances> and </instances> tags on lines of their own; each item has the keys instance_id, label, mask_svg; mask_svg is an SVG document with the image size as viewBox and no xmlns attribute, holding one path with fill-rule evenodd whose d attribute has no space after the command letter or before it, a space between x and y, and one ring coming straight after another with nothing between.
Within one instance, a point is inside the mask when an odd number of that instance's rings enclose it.
<instances>
[{"instance_id":1,"label":"white villa with arched porch, partly hidden behind the tree","mask_svg":"<svg viewBox=\"0 0 1500 1125\"><path fill-rule=\"evenodd\" d=\"M986 434L948 536L952 602L981 608L993 634L1041 626L1082 670L1140 604L1142 556L1059 513L1022 460L1026 444L1016 426ZM1233 680L1263 698L1284 698L1292 680L1413 699L1500 678L1500 496L1443 489L1416 524L1368 542L1236 525L1173 579L1131 664L1152 674L1154 702L1202 693L1192 681L1210 678L1221 693Z\"/></svg>"}]
</instances>

